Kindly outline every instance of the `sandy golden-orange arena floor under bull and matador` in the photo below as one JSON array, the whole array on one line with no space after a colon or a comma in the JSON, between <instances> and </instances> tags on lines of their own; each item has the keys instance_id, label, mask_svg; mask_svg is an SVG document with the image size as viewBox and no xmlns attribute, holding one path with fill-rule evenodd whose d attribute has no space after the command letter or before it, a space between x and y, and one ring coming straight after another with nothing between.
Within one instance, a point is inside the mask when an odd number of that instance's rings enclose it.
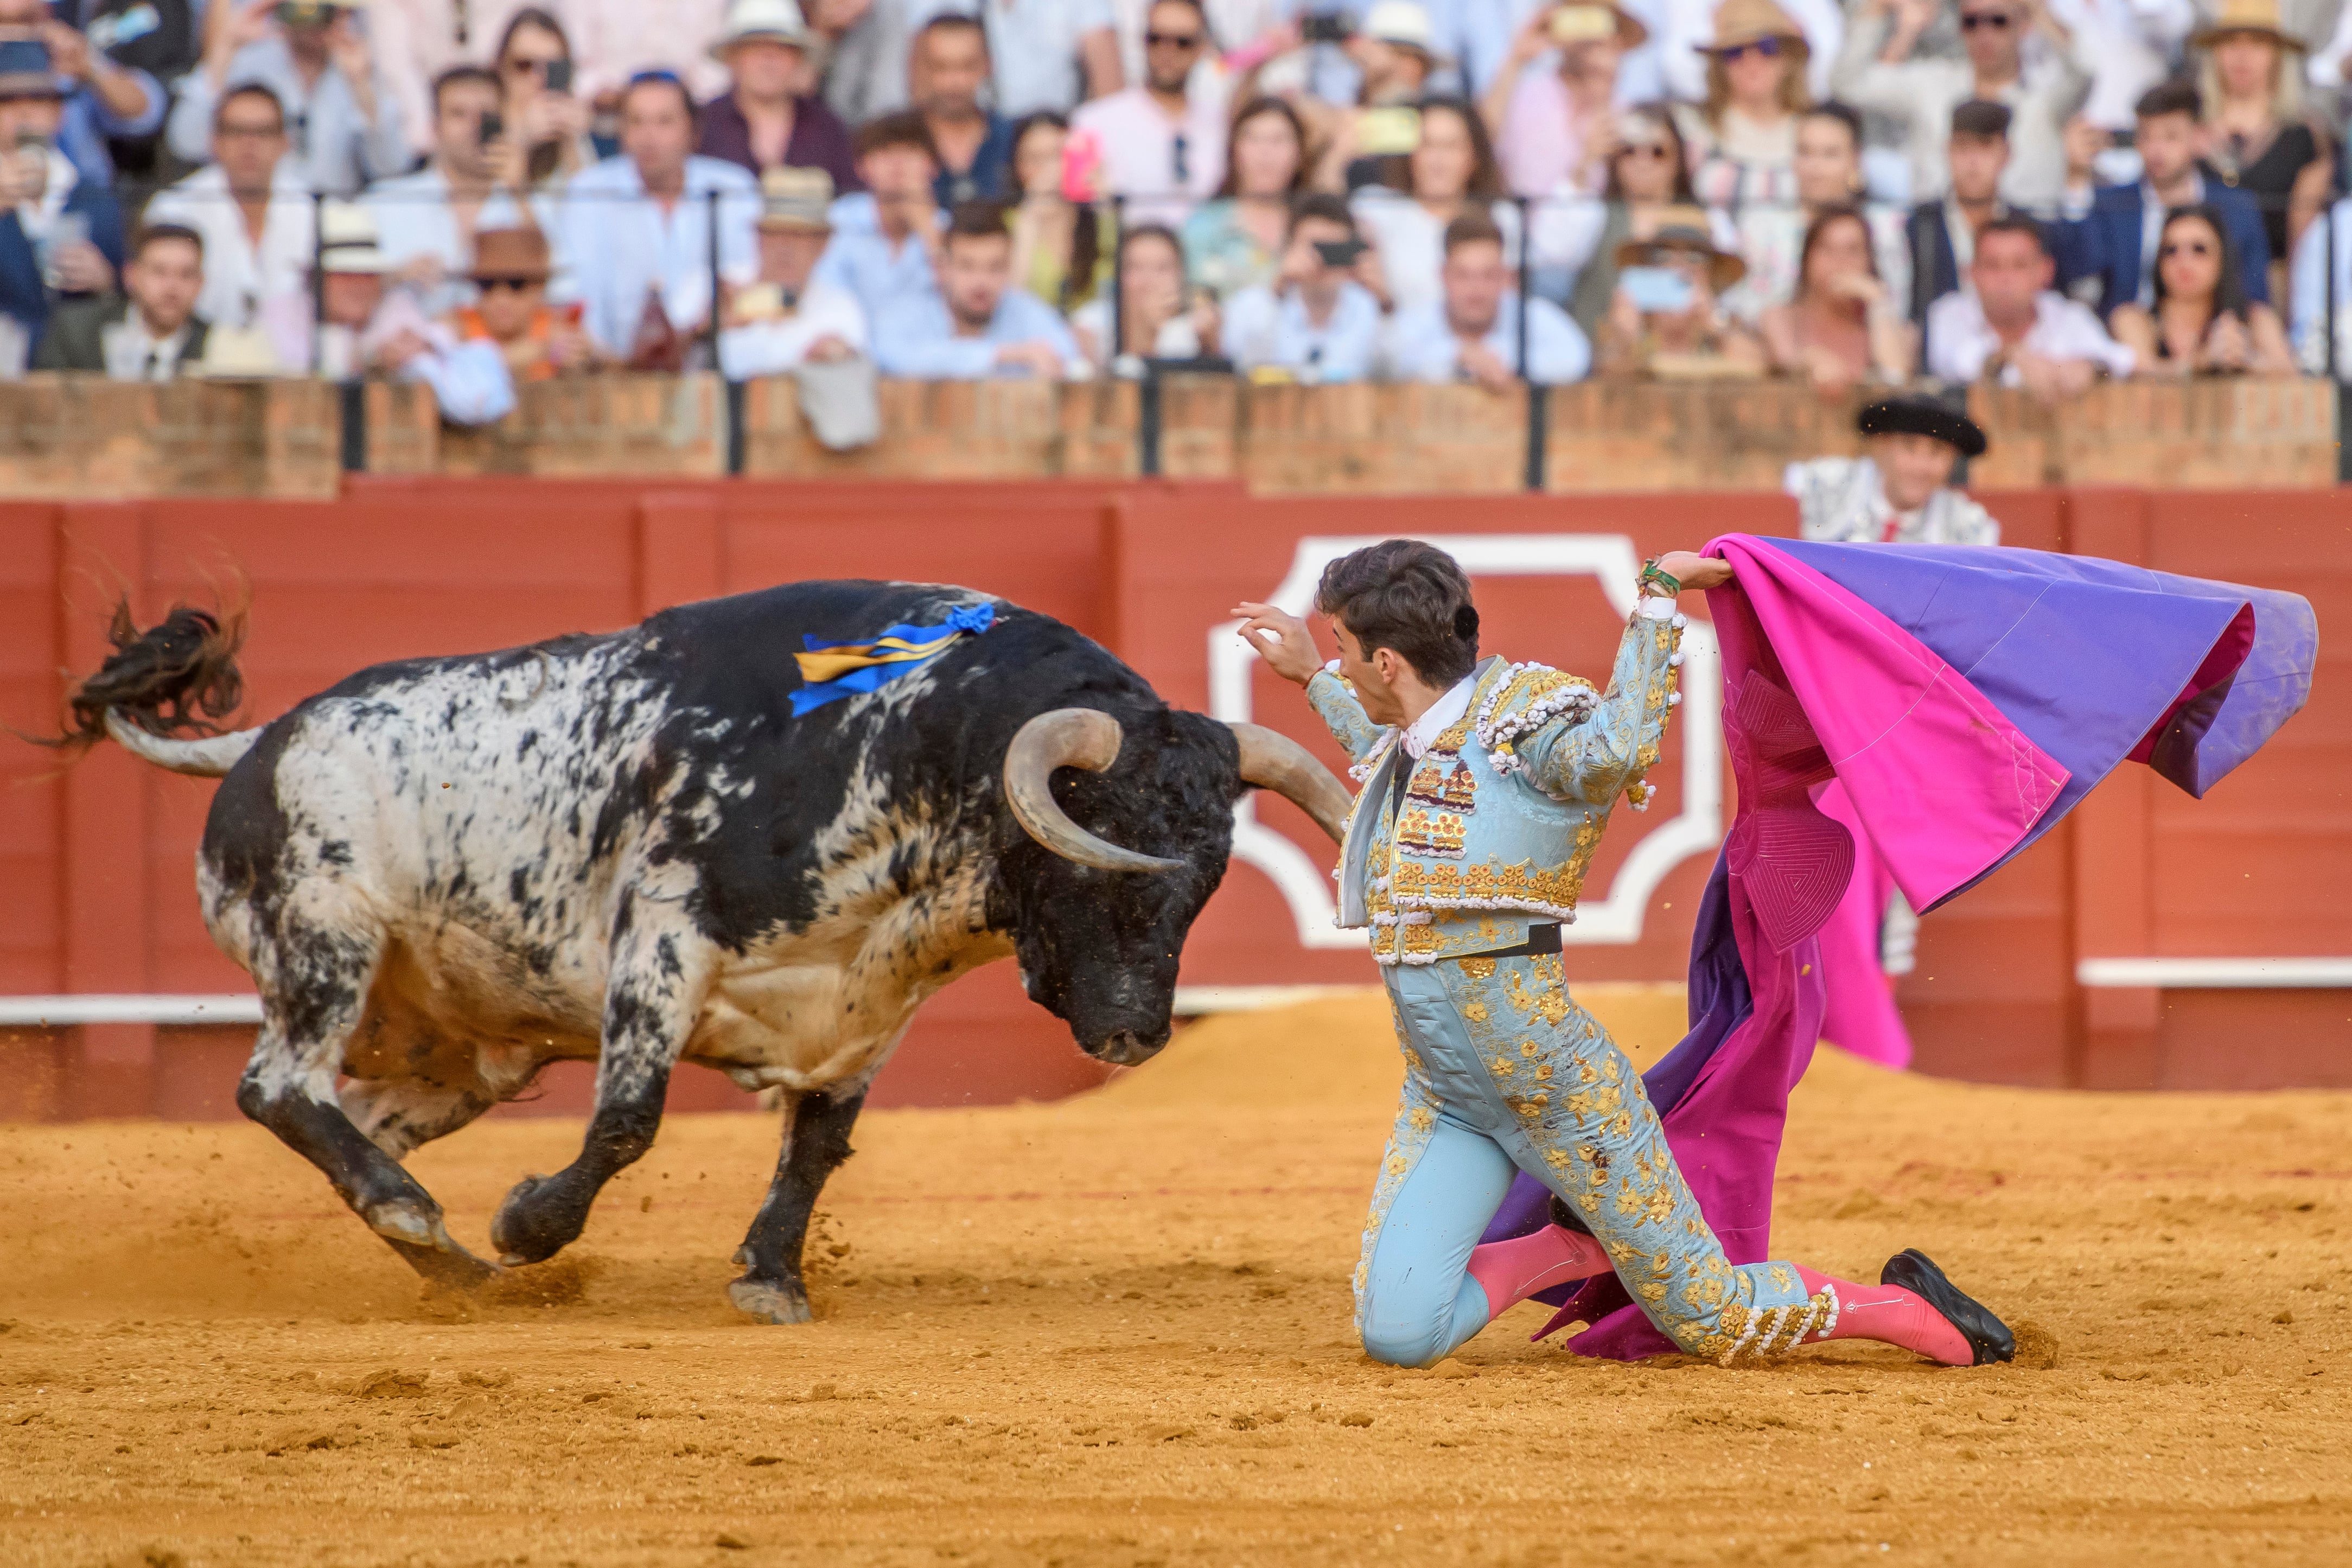
<instances>
[{"instance_id":1,"label":"sandy golden-orange arena floor under bull and matador","mask_svg":"<svg viewBox=\"0 0 2352 1568\"><path fill-rule=\"evenodd\" d=\"M581 1246L473 1305L259 1128L0 1128L0 1561L2352 1561L2352 1095L1825 1053L1783 1251L1875 1279L1917 1244L2056 1366L1604 1366L1519 1307L1395 1373L1348 1331L1392 1088L1381 1004L1336 999L1084 1100L868 1117L809 1328L722 1298L764 1117L673 1119ZM480 1244L576 1135L414 1166Z\"/></svg>"}]
</instances>

